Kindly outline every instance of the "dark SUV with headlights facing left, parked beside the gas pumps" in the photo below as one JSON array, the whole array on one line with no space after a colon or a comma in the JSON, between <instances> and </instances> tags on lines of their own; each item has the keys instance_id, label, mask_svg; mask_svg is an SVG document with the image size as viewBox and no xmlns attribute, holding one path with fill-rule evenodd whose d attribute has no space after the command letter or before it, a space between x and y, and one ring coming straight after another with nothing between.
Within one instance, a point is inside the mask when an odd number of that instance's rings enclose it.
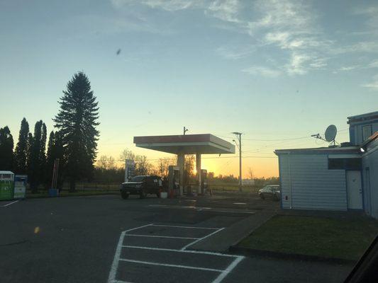
<instances>
[{"instance_id":1,"label":"dark SUV with headlights facing left, parked beside the gas pumps","mask_svg":"<svg viewBox=\"0 0 378 283\"><path fill-rule=\"evenodd\" d=\"M162 179L158 176L140 175L131 178L121 185L121 197L127 199L129 195L140 195L143 199L148 194L159 197L162 189Z\"/></svg>"}]
</instances>

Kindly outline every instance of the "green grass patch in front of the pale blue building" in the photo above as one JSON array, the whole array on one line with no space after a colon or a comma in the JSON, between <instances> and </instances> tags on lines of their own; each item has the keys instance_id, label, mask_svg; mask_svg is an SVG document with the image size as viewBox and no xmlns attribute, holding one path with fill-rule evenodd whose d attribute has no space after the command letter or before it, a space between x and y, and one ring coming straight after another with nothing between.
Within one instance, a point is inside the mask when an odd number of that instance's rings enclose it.
<instances>
[{"instance_id":1,"label":"green grass patch in front of the pale blue building","mask_svg":"<svg viewBox=\"0 0 378 283\"><path fill-rule=\"evenodd\" d=\"M378 234L378 221L274 216L238 246L279 253L358 260Z\"/></svg>"}]
</instances>

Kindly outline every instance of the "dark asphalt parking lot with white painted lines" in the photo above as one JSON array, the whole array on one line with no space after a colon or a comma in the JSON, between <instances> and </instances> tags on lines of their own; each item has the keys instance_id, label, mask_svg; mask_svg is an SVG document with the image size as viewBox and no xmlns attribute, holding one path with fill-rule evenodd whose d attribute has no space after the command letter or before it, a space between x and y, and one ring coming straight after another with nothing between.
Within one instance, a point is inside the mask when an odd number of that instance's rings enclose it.
<instances>
[{"instance_id":1,"label":"dark asphalt parking lot with white painted lines","mask_svg":"<svg viewBox=\"0 0 378 283\"><path fill-rule=\"evenodd\" d=\"M278 210L248 195L0 202L0 281L342 282L350 266L224 250L235 229Z\"/></svg>"}]
</instances>

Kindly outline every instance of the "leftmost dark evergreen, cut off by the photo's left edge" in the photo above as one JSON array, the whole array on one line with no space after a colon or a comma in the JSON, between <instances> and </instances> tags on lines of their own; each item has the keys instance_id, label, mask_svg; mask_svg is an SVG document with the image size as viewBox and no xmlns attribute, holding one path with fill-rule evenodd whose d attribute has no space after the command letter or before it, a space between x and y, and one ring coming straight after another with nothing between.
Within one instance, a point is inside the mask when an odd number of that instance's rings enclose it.
<instances>
[{"instance_id":1,"label":"leftmost dark evergreen, cut off by the photo's left edge","mask_svg":"<svg viewBox=\"0 0 378 283\"><path fill-rule=\"evenodd\" d=\"M9 127L0 128L0 170L13 170L13 146Z\"/></svg>"}]
</instances>

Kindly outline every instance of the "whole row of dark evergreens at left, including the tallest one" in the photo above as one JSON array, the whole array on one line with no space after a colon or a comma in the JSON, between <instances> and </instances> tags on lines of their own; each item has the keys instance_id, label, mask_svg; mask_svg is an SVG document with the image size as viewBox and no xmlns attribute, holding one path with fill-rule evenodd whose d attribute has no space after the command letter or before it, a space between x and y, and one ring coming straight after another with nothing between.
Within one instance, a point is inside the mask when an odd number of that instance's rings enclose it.
<instances>
[{"instance_id":1,"label":"whole row of dark evergreens at left, including the tallest one","mask_svg":"<svg viewBox=\"0 0 378 283\"><path fill-rule=\"evenodd\" d=\"M57 187L64 181L75 191L76 182L91 178L94 173L99 131L99 107L91 91L89 79L79 71L67 83L67 89L58 101L60 108L52 118L55 131L51 131L47 142L47 127L40 120L33 132L24 117L13 150L13 136L8 126L0 128L0 170L28 175L32 192L41 185L49 188L55 160L59 159L60 171Z\"/></svg>"}]
</instances>

